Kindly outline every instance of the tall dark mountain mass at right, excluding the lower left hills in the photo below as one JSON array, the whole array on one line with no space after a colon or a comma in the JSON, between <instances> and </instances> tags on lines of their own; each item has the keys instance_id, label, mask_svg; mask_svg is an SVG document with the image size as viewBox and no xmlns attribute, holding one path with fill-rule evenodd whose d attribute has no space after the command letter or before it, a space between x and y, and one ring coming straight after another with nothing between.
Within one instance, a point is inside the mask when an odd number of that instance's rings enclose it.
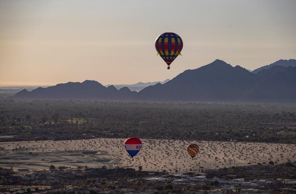
<instances>
[{"instance_id":1,"label":"tall dark mountain mass at right, excluding the lower left hills","mask_svg":"<svg viewBox=\"0 0 296 194\"><path fill-rule=\"evenodd\" d=\"M194 101L296 101L296 67L273 66L253 74L221 60L186 70L166 84L139 92L141 99Z\"/></svg>"}]
</instances>

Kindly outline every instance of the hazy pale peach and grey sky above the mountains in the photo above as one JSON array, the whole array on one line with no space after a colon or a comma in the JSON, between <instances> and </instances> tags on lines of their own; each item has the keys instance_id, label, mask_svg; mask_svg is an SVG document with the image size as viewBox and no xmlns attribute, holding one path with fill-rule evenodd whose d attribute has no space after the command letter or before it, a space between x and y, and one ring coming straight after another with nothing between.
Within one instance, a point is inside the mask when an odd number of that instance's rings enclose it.
<instances>
[{"instance_id":1,"label":"hazy pale peach and grey sky above the mountains","mask_svg":"<svg viewBox=\"0 0 296 194\"><path fill-rule=\"evenodd\" d=\"M172 79L216 59L256 69L296 58L296 1L0 0L0 85ZM183 39L167 70L154 41Z\"/></svg>"}]
</instances>

